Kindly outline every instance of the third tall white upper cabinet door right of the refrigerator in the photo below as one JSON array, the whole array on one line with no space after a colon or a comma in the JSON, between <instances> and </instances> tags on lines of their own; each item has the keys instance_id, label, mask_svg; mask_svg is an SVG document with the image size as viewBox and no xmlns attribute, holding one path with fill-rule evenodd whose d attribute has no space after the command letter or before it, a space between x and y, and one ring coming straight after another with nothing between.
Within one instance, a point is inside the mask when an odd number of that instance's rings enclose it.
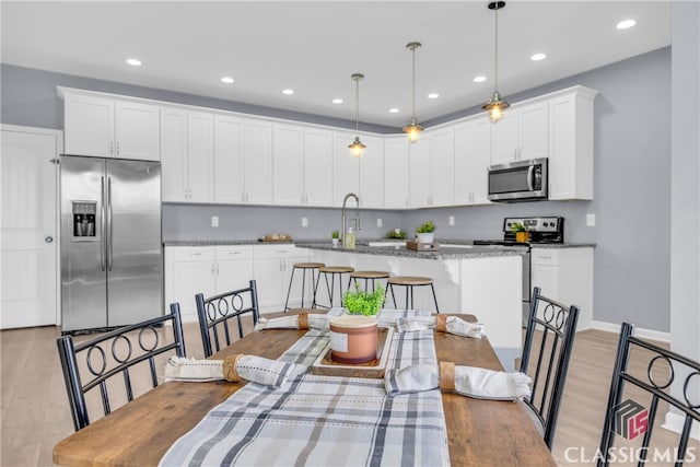
<instances>
[{"instance_id":1,"label":"third tall white upper cabinet door right of the refrigerator","mask_svg":"<svg viewBox=\"0 0 700 467\"><path fill-rule=\"evenodd\" d=\"M238 203L243 187L243 120L214 117L214 201Z\"/></svg>"}]
</instances>

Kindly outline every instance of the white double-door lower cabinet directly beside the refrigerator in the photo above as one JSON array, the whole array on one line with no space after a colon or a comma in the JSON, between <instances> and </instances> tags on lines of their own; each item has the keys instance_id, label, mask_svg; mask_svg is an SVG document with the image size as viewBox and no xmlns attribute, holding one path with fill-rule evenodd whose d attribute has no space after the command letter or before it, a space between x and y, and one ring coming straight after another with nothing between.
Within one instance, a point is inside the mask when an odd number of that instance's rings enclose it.
<instances>
[{"instance_id":1,"label":"white double-door lower cabinet directly beside the refrigerator","mask_svg":"<svg viewBox=\"0 0 700 467\"><path fill-rule=\"evenodd\" d=\"M197 320L195 295L245 288L253 279L253 246L165 247L165 307L179 303L183 320Z\"/></svg>"}]
</instances>

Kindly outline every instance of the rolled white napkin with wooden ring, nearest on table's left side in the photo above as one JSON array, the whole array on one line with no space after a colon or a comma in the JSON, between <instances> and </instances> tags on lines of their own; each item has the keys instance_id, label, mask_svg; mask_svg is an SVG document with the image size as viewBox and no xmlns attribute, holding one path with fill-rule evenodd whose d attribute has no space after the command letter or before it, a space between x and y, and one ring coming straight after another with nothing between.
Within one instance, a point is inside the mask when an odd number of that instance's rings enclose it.
<instances>
[{"instance_id":1,"label":"rolled white napkin with wooden ring, nearest on table's left side","mask_svg":"<svg viewBox=\"0 0 700 467\"><path fill-rule=\"evenodd\" d=\"M236 354L225 360L195 360L171 357L165 364L165 381L207 382L249 381L270 387L282 387L308 370L306 365L280 362L262 357Z\"/></svg>"}]
</instances>

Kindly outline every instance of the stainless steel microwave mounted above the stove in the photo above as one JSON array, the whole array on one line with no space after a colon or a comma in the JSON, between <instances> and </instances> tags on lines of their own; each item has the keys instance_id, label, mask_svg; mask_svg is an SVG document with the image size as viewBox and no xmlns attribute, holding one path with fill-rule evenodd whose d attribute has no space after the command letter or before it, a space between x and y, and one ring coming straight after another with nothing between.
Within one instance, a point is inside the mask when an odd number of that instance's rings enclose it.
<instances>
[{"instance_id":1,"label":"stainless steel microwave mounted above the stove","mask_svg":"<svg viewBox=\"0 0 700 467\"><path fill-rule=\"evenodd\" d=\"M489 167L491 201L536 201L548 198L547 157L516 161Z\"/></svg>"}]
</instances>

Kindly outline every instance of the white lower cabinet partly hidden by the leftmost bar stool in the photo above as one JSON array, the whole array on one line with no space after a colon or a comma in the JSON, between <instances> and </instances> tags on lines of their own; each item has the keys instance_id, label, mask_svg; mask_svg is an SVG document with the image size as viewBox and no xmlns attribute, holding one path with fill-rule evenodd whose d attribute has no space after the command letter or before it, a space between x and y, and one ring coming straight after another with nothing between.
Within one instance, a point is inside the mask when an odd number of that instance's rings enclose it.
<instances>
[{"instance_id":1,"label":"white lower cabinet partly hidden by the leftmost bar stool","mask_svg":"<svg viewBox=\"0 0 700 467\"><path fill-rule=\"evenodd\" d=\"M253 276L257 282L260 313L281 312L284 310L287 291L289 290L289 281L294 262L308 261L308 250L296 248L291 244L255 245L253 246ZM296 284L298 279L300 281L299 284ZM290 306L299 307L301 296L300 270L294 278L294 285L292 285L289 297Z\"/></svg>"}]
</instances>

